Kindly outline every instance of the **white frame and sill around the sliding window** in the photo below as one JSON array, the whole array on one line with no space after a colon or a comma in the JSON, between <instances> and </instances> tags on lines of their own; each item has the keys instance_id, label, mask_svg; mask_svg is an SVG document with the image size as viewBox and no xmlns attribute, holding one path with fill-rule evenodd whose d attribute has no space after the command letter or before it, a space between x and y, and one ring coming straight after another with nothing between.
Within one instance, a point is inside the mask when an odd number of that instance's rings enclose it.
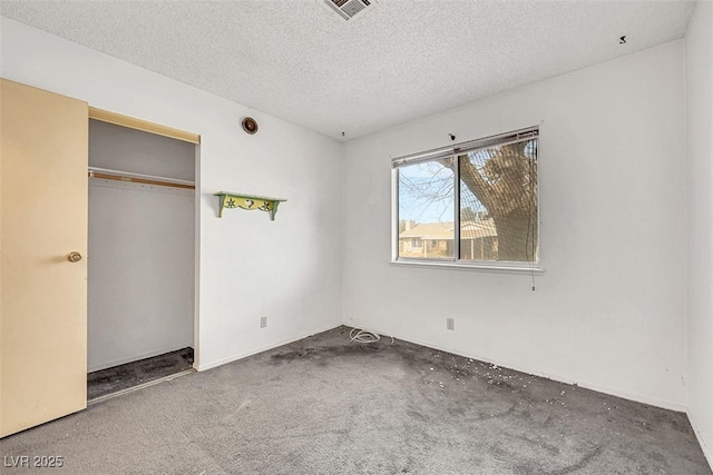
<instances>
[{"instance_id":1,"label":"white frame and sill around the sliding window","mask_svg":"<svg viewBox=\"0 0 713 475\"><path fill-rule=\"evenodd\" d=\"M528 127L511 132L500 133L496 136L485 137L482 139L471 140L462 144L456 144L451 147L427 150L419 154L395 157L391 159L391 264L398 266L417 266L417 267L434 267L434 268L455 268L463 270L486 270L496 273L512 274L543 274L541 267L541 209L540 209L540 147L539 147L539 126ZM465 260L460 259L460 167L458 156L477 149L484 149L495 146L501 146L524 140L538 140L537 155L537 260L533 263L507 261L507 260ZM432 161L436 159L455 157L453 160L453 257L452 258L430 258L423 259L418 257L399 257L399 168L408 165Z\"/></svg>"}]
</instances>

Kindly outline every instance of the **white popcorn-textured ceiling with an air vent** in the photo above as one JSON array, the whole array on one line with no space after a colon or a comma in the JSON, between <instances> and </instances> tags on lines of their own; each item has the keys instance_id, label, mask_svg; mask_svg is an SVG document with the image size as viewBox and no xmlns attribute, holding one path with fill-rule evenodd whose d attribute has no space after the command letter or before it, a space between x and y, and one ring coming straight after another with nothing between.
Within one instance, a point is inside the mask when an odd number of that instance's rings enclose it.
<instances>
[{"instance_id":1,"label":"white popcorn-textured ceiling with an air vent","mask_svg":"<svg viewBox=\"0 0 713 475\"><path fill-rule=\"evenodd\" d=\"M0 13L349 140L682 38L694 8L377 0L346 22L320 1L2 1Z\"/></svg>"}]
</instances>

